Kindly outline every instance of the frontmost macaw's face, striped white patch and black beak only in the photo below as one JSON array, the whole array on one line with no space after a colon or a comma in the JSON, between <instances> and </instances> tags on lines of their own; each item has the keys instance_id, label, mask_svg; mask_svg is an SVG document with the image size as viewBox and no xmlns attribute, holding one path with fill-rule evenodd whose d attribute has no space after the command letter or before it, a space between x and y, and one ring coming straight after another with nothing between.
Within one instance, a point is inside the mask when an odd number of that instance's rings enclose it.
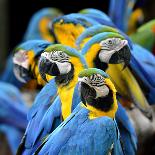
<instances>
[{"instance_id":1,"label":"frontmost macaw's face, striped white patch and black beak only","mask_svg":"<svg viewBox=\"0 0 155 155\"><path fill-rule=\"evenodd\" d=\"M100 74L79 77L78 81L81 100L84 104L92 99L104 98L110 92L105 78Z\"/></svg>"}]
</instances>

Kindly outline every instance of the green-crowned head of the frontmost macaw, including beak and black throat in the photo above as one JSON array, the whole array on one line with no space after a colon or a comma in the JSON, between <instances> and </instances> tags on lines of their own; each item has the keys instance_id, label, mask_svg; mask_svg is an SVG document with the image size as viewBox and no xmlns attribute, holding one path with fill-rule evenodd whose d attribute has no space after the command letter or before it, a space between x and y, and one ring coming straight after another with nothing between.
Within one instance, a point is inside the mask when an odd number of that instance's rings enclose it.
<instances>
[{"instance_id":1,"label":"green-crowned head of the frontmost macaw, including beak and black throat","mask_svg":"<svg viewBox=\"0 0 155 155\"><path fill-rule=\"evenodd\" d=\"M78 82L81 100L86 106L108 112L117 104L115 86L104 71L84 69L79 74ZM117 110L117 106L115 108Z\"/></svg>"}]
</instances>

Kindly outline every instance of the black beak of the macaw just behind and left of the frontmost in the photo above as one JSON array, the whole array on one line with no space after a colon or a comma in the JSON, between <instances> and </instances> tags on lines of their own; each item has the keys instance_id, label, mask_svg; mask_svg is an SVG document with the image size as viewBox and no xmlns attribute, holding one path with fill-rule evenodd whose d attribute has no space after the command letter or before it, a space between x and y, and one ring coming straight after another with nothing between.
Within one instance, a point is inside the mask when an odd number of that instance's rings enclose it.
<instances>
[{"instance_id":1,"label":"black beak of the macaw just behind and left of the frontmost","mask_svg":"<svg viewBox=\"0 0 155 155\"><path fill-rule=\"evenodd\" d=\"M49 61L45 57L41 57L39 61L39 72L43 80L47 81L46 75L59 76L60 71L56 63Z\"/></svg>"}]
</instances>

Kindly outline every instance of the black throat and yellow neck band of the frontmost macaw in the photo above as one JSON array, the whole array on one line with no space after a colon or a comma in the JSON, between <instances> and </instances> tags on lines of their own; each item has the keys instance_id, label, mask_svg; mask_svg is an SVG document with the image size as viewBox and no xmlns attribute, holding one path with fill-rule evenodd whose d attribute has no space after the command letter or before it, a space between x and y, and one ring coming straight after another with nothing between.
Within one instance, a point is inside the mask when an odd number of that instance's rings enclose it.
<instances>
[{"instance_id":1,"label":"black throat and yellow neck band of the frontmost macaw","mask_svg":"<svg viewBox=\"0 0 155 155\"><path fill-rule=\"evenodd\" d=\"M116 93L112 93L112 96L110 94L110 96L94 100L92 103L86 103L86 106L83 106L90 111L90 119L95 119L103 116L114 118L118 108Z\"/></svg>"}]
</instances>

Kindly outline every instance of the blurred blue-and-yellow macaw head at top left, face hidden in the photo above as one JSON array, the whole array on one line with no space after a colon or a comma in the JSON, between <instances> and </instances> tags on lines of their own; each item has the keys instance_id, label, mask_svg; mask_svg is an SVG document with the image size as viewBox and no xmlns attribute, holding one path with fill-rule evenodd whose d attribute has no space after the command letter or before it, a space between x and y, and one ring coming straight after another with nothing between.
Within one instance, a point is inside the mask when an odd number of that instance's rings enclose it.
<instances>
[{"instance_id":1,"label":"blurred blue-and-yellow macaw head at top left, face hidden","mask_svg":"<svg viewBox=\"0 0 155 155\"><path fill-rule=\"evenodd\" d=\"M24 41L33 39L44 39L55 42L53 33L50 31L51 20L62 15L56 8L43 8L36 12L30 19Z\"/></svg>"}]
</instances>

